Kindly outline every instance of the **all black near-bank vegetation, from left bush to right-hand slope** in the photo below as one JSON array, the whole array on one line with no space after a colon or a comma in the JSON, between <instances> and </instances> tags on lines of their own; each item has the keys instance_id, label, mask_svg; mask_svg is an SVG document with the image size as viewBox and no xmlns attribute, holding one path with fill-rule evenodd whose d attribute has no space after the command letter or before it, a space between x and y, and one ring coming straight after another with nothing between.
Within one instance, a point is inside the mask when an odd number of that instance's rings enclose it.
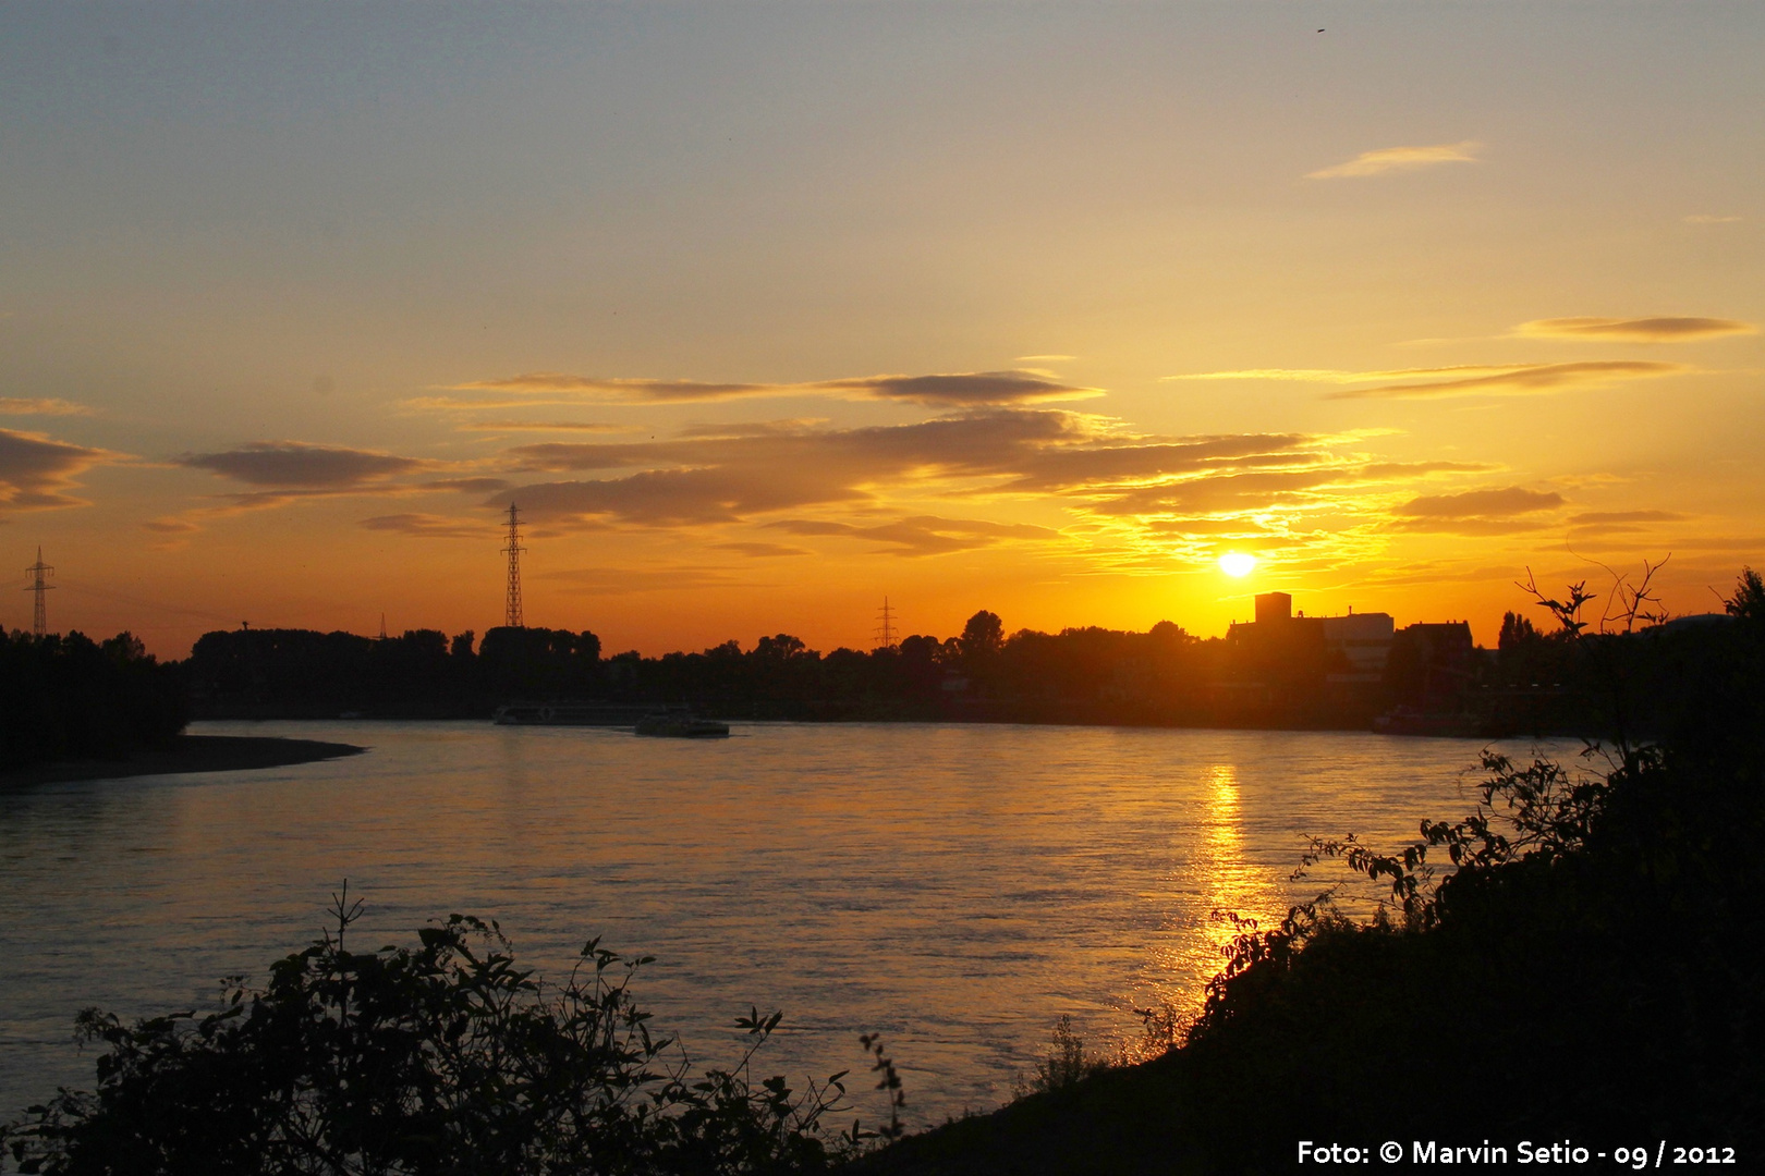
<instances>
[{"instance_id":1,"label":"all black near-bank vegetation, from left bush to right-hand slope","mask_svg":"<svg viewBox=\"0 0 1765 1176\"><path fill-rule=\"evenodd\" d=\"M1580 763L1486 753L1476 811L1400 853L1318 841L1310 864L1377 887L1378 913L1327 894L1244 926L1191 1024L1149 1017L1151 1061L1100 1063L1068 1031L1011 1105L867 1151L826 1127L844 1076L794 1093L748 1061L669 1063L593 943L542 989L473 920L346 952L339 904L334 936L215 1014L88 1012L97 1091L32 1109L5 1148L42 1172L930 1176L1287 1171L1299 1141L1488 1141L1513 1162L1569 1139L1733 1148L1746 1171L1765 1148L1765 584L1742 575L1671 698L1638 695L1641 591L1613 631L1580 626L1574 594L1546 605L1610 739ZM759 1042L777 1019L741 1024Z\"/></svg>"}]
</instances>

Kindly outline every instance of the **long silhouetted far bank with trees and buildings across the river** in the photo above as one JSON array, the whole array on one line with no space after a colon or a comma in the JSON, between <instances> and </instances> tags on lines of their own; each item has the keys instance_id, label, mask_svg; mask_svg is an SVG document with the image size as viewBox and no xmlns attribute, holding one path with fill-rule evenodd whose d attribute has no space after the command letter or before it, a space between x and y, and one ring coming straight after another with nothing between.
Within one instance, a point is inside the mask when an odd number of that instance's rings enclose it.
<instances>
[{"instance_id":1,"label":"long silhouetted far bank with trees and buildings across the river","mask_svg":"<svg viewBox=\"0 0 1765 1176\"><path fill-rule=\"evenodd\" d=\"M1200 640L1168 621L1008 635L987 610L957 636L826 654L789 633L750 649L602 658L597 635L568 629L496 628L477 647L469 631L237 629L205 635L180 670L210 718L485 718L501 702L574 698L738 719L1364 726L1396 712L1433 716L1421 730L1566 733L1603 721L1590 682L1610 677L1613 658L1656 695L1694 675L1716 635L1710 619L1693 621L1573 640L1580 629L1543 631L1511 612L1493 651L1474 649L1461 622L1416 624L1396 633L1382 674L1354 674L1341 649L1297 624L1257 640Z\"/></svg>"}]
</instances>

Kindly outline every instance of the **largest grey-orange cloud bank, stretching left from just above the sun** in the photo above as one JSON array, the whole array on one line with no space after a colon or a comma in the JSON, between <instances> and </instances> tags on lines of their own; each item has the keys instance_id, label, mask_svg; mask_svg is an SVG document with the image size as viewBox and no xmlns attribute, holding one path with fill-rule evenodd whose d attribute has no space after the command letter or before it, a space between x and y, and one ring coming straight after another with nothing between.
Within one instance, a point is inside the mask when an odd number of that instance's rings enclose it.
<instances>
[{"instance_id":1,"label":"largest grey-orange cloud bank, stretching left from just above the sun","mask_svg":"<svg viewBox=\"0 0 1765 1176\"><path fill-rule=\"evenodd\" d=\"M1377 460L1348 450L1361 441L1299 432L1145 437L1061 409L867 428L770 421L665 441L515 446L505 457L528 469L598 476L510 487L487 504L514 501L563 529L759 524L902 555L1084 543L1100 568L1151 575L1168 571L1172 559L1211 559L1227 534L1257 536L1258 550L1336 557L1350 545L1371 548L1389 522L1382 502L1391 487L1491 469ZM925 499L1029 501L1061 508L1071 524L1055 531L909 511L874 518ZM1303 524L1313 517L1329 524Z\"/></svg>"}]
</instances>

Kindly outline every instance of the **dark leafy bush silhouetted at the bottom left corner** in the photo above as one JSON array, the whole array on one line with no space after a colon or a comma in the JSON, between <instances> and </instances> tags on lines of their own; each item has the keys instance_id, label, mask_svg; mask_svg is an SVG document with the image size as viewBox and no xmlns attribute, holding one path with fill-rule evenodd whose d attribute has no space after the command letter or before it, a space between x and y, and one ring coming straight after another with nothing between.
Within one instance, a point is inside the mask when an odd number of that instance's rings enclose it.
<instances>
[{"instance_id":1,"label":"dark leafy bush silhouetted at the bottom left corner","mask_svg":"<svg viewBox=\"0 0 1765 1176\"><path fill-rule=\"evenodd\" d=\"M792 1093L750 1079L778 1014L738 1021L731 1070L690 1070L628 984L635 959L590 942L568 982L515 966L494 924L454 915L417 947L346 949L337 931L229 980L217 1012L125 1024L95 1009L95 1093L62 1090L0 1130L21 1172L634 1174L805 1172L863 1137L830 1134L842 1077ZM4 1164L4 1160L0 1160Z\"/></svg>"}]
</instances>

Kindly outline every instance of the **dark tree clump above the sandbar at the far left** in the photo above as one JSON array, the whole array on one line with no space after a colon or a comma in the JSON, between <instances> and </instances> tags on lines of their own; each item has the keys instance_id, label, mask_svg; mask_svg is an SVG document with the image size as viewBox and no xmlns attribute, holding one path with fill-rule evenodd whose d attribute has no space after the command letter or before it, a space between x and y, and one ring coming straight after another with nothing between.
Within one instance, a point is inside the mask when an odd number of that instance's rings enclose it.
<instances>
[{"instance_id":1,"label":"dark tree clump above the sandbar at the far left","mask_svg":"<svg viewBox=\"0 0 1765 1176\"><path fill-rule=\"evenodd\" d=\"M132 633L0 631L0 770L41 760L122 756L189 721L176 674Z\"/></svg>"}]
</instances>

